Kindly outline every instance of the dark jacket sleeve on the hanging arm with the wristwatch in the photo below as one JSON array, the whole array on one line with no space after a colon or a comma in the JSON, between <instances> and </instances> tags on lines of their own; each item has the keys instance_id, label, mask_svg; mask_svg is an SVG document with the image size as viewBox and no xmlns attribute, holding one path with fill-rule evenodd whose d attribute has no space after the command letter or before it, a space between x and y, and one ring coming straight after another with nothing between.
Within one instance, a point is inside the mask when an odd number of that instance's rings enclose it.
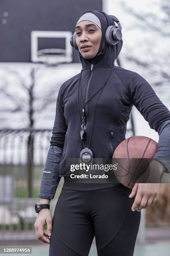
<instances>
[{"instance_id":1,"label":"dark jacket sleeve on the hanging arm with the wristwatch","mask_svg":"<svg viewBox=\"0 0 170 256\"><path fill-rule=\"evenodd\" d=\"M52 129L50 148L48 150L45 168L42 173L40 193L38 195L40 198L53 199L55 196L61 178L59 177L59 164L66 131L67 125L64 117L64 109L62 107L62 93L60 87L56 103L55 121Z\"/></svg>"}]
</instances>

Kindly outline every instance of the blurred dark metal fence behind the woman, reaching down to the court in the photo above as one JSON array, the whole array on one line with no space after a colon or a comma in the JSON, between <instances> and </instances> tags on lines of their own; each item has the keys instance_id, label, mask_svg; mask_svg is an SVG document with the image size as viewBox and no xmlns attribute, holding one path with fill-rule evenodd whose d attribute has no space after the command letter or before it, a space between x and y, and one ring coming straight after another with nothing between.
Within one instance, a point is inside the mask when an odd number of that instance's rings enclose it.
<instances>
[{"instance_id":1,"label":"blurred dark metal fence behind the woman, reaching down to the court","mask_svg":"<svg viewBox=\"0 0 170 256\"><path fill-rule=\"evenodd\" d=\"M3 231L0 232L3 234L0 235L1 241L35 239L34 223L37 214L34 205L39 201L40 181L51 135L50 129L0 130L0 231ZM127 129L126 138L130 136L134 136L132 128ZM62 184L63 179L50 202L52 213ZM141 223L139 233L144 241L144 218Z\"/></svg>"}]
</instances>

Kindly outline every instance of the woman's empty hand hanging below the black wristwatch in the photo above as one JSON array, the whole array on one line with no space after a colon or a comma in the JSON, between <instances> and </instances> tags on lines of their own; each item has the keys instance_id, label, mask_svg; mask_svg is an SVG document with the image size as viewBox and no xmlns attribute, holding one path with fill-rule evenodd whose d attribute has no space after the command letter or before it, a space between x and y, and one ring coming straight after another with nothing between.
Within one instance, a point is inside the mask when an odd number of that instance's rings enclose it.
<instances>
[{"instance_id":1,"label":"woman's empty hand hanging below the black wristwatch","mask_svg":"<svg viewBox=\"0 0 170 256\"><path fill-rule=\"evenodd\" d=\"M47 225L47 234L44 232L44 225ZM41 209L37 214L34 223L37 238L43 243L50 243L52 232L52 215L49 209Z\"/></svg>"}]
</instances>

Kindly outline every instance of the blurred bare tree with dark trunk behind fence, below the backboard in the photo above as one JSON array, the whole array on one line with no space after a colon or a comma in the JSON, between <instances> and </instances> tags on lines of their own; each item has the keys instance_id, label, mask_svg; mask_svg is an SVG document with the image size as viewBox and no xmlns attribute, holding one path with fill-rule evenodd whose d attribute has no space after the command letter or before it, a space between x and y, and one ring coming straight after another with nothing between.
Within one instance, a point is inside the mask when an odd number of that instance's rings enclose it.
<instances>
[{"instance_id":1,"label":"blurred bare tree with dark trunk behind fence, below the backboard","mask_svg":"<svg viewBox=\"0 0 170 256\"><path fill-rule=\"evenodd\" d=\"M43 113L48 110L48 119L51 112L50 107L57 98L57 91L60 83L56 81L50 82L48 79L47 90L45 88L36 89L39 80L45 75L45 69L31 67L29 74L23 78L15 69L6 67L1 70L0 79L0 124L1 128L13 128L14 122L10 122L10 116L16 116L15 128L27 128L27 172L28 172L28 197L33 194L33 156L34 156L34 133L33 129L38 118L47 116ZM41 78L41 79L40 79ZM50 84L51 83L51 84ZM41 90L42 89L42 90ZM18 118L17 118L18 114ZM38 117L39 116L39 117ZM14 118L15 120L15 118ZM21 120L21 121L20 121ZM4 125L5 124L5 125ZM5 128L6 128L5 127Z\"/></svg>"}]
</instances>

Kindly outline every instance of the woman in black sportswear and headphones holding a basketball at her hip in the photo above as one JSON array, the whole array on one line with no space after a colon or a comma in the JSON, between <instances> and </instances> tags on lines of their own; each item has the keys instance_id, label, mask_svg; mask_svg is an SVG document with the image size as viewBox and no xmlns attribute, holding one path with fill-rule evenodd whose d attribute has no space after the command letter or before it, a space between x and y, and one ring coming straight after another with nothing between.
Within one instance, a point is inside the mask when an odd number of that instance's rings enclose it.
<instances>
[{"instance_id":1,"label":"woman in black sportswear and headphones holding a basketball at her hip","mask_svg":"<svg viewBox=\"0 0 170 256\"><path fill-rule=\"evenodd\" d=\"M112 158L125 139L133 105L159 133L153 159L155 175L170 172L170 111L143 77L115 66L122 38L118 21L119 31L113 33L117 38L110 37L110 29L116 28L113 19L116 21L104 12L87 11L77 21L71 38L80 52L82 70L59 90L40 204L50 204L60 177L65 177L65 182L53 219L49 209L41 209L35 222L37 238L50 243L50 256L86 256L94 236L97 255L133 256L140 210L156 201L160 184L136 183L131 190L111 179L72 181L66 161L93 163L94 159Z\"/></svg>"}]
</instances>

